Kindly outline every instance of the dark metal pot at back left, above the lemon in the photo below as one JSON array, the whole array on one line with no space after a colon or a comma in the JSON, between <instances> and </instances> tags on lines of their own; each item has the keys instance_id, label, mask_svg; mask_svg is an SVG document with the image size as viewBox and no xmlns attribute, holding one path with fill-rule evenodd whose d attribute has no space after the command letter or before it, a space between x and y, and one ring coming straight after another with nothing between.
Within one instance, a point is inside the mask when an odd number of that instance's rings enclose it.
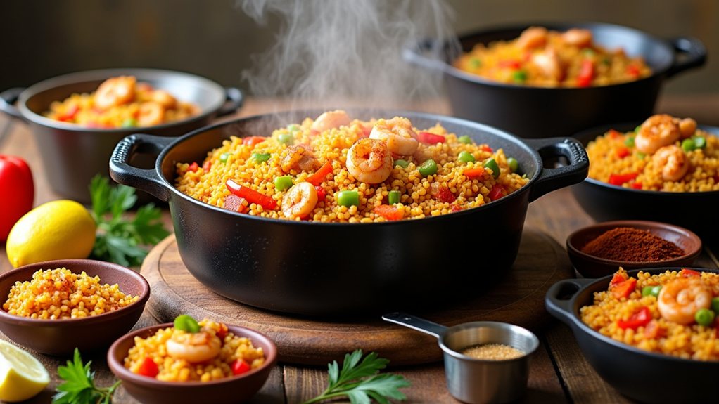
<instances>
[{"instance_id":1,"label":"dark metal pot at back left, above the lemon","mask_svg":"<svg viewBox=\"0 0 719 404\"><path fill-rule=\"evenodd\" d=\"M42 116L50 104L73 93L92 93L110 77L134 75L137 81L162 88L201 109L198 116L183 121L144 128L85 128ZM14 104L17 102L17 107ZM76 72L44 80L29 88L0 93L0 111L29 124L40 149L50 187L62 197L89 204L88 187L95 174L107 177L107 161L117 142L137 131L157 136L180 136L207 126L212 119L237 111L242 93L223 88L204 77L183 72L153 69L110 69ZM134 164L152 167L155 156L137 156Z\"/></svg>"}]
</instances>

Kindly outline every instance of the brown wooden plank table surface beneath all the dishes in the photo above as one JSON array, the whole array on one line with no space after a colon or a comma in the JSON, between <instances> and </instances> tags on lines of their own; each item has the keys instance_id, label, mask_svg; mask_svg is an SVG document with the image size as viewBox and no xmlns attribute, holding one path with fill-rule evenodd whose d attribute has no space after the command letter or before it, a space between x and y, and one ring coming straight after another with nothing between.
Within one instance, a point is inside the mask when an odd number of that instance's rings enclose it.
<instances>
[{"instance_id":1,"label":"brown wooden plank table surface beneath all the dishes","mask_svg":"<svg viewBox=\"0 0 719 404\"><path fill-rule=\"evenodd\" d=\"M281 103L280 103L281 104ZM237 116L251 116L257 113L275 111L274 100L249 99ZM288 105L285 103L285 105ZM282 108L283 109L283 108ZM449 113L444 101L421 105L418 108L435 113ZM700 123L719 126L719 96L674 96L661 98L658 111L692 116ZM234 117L232 117L234 118ZM60 199L47 184L44 167L40 159L35 139L29 128L22 122L9 119L0 114L0 154L12 154L23 157L31 166L35 179L35 206ZM3 198L9 195L2 195ZM1 208L0 208L1 209ZM171 226L169 212L164 212L165 221ZM561 189L532 202L526 219L526 225L535 227L551 235L564 245L567 235L579 227L592 223L572 197L569 189ZM12 267L5 253L4 245L0 252L0 273ZM708 250L702 254L697 266L717 268L710 258ZM157 324L150 314L143 314L135 328ZM532 358L528 391L522 402L526 403L629 403L630 400L618 395L613 387L597 376L592 367L582 357L570 329L559 321L547 324L539 335L541 347ZM6 339L0 334L0 338ZM43 393L30 400L30 403L49 403L58 384L57 367L68 358L47 357L35 354L45 364L52 375L52 382ZM97 384L111 385L114 376L109 371L103 355L83 357L92 360L92 370L96 372ZM342 358L337 358L342 360ZM393 368L393 372L404 375L412 387L403 391L408 403L457 403L446 390L444 369L441 363L416 367ZM270 379L251 403L301 403L321 393L326 386L326 367L297 367L280 364L270 375ZM120 387L115 403L137 403Z\"/></svg>"}]
</instances>

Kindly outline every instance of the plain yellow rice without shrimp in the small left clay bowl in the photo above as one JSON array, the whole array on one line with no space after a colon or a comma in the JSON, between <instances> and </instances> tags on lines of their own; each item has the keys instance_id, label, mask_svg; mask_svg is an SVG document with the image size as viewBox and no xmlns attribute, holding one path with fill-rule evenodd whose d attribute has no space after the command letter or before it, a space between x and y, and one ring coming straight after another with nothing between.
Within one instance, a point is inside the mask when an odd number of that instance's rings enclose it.
<instances>
[{"instance_id":1,"label":"plain yellow rice without shrimp in the small left clay bowl","mask_svg":"<svg viewBox=\"0 0 719 404\"><path fill-rule=\"evenodd\" d=\"M32 280L16 282L2 308L15 316L32 319L77 319L120 309L139 299L100 283L99 276L67 268L42 269Z\"/></svg>"}]
</instances>

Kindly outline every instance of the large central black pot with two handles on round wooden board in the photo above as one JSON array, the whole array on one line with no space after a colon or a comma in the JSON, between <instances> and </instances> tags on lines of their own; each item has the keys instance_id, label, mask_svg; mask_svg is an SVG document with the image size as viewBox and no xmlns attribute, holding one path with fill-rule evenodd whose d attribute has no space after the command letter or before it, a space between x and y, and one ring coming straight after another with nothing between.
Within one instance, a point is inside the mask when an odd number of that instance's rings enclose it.
<instances>
[{"instance_id":1,"label":"large central black pot with two handles on round wooden board","mask_svg":"<svg viewBox=\"0 0 719 404\"><path fill-rule=\"evenodd\" d=\"M587 155L574 139L521 141L457 118L406 111L349 111L356 118L406 116L414 126L447 130L503 148L531 180L518 192L471 210L421 220L318 223L272 220L206 205L179 192L175 163L202 161L229 136L267 136L274 128L322 111L244 118L178 139L135 134L110 160L121 184L168 201L180 256L212 290L244 304L294 314L368 314L437 306L476 296L516 258L528 203L587 176ZM156 151L155 169L127 161ZM542 157L564 156L568 166L542 168Z\"/></svg>"}]
</instances>

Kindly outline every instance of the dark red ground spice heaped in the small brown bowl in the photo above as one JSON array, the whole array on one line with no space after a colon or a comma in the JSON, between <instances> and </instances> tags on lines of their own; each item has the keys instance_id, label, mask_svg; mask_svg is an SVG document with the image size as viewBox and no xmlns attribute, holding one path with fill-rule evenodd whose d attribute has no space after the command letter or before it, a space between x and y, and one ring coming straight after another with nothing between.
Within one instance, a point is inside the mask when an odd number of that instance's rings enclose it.
<instances>
[{"instance_id":1,"label":"dark red ground spice heaped in the small brown bowl","mask_svg":"<svg viewBox=\"0 0 719 404\"><path fill-rule=\"evenodd\" d=\"M671 241L633 227L615 227L591 240L582 253L606 260L652 262L677 258L684 250Z\"/></svg>"}]
</instances>

